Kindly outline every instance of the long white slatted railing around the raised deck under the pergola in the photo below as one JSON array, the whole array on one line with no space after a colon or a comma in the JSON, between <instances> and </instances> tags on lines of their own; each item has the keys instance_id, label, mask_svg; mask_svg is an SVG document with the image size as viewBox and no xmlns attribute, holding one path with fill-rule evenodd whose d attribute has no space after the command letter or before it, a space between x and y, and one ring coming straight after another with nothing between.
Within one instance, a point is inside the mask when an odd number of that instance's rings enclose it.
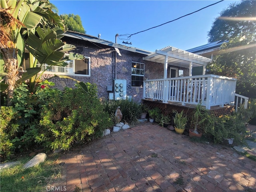
<instances>
[{"instance_id":1,"label":"long white slatted railing around the raised deck under the pergola","mask_svg":"<svg viewBox=\"0 0 256 192\"><path fill-rule=\"evenodd\" d=\"M211 106L234 104L236 79L216 75L186 76L168 79L146 80L143 84L143 98L202 104Z\"/></svg>"}]
</instances>

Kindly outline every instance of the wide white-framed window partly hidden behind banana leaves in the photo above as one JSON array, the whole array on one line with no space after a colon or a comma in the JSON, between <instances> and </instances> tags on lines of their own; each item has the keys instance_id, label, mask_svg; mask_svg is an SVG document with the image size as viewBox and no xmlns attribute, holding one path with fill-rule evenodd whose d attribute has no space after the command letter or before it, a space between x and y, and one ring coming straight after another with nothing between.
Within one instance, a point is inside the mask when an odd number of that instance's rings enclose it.
<instances>
[{"instance_id":1,"label":"wide white-framed window partly hidden behind banana leaves","mask_svg":"<svg viewBox=\"0 0 256 192\"><path fill-rule=\"evenodd\" d=\"M90 57L84 57L83 60L66 61L67 66L51 66L42 64L42 70L46 70L48 74L65 74L73 76L90 76ZM40 67L40 64L37 64ZM49 67L49 68L48 68Z\"/></svg>"}]
</instances>

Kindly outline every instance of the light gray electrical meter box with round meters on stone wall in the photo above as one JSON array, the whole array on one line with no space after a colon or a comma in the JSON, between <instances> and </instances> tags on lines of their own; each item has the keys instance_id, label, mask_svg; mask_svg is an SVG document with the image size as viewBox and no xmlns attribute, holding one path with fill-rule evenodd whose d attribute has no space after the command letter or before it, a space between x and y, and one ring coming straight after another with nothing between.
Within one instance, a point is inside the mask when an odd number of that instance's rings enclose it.
<instances>
[{"instance_id":1,"label":"light gray electrical meter box with round meters on stone wall","mask_svg":"<svg viewBox=\"0 0 256 192\"><path fill-rule=\"evenodd\" d=\"M126 79L115 79L114 100L126 100Z\"/></svg>"}]
</instances>

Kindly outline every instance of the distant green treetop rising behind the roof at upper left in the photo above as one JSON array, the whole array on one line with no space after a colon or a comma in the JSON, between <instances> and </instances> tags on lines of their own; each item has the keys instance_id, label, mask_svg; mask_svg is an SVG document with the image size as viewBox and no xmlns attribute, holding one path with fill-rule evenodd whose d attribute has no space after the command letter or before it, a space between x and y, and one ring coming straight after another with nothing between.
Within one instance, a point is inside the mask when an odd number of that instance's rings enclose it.
<instances>
[{"instance_id":1,"label":"distant green treetop rising behind the roof at upper left","mask_svg":"<svg viewBox=\"0 0 256 192\"><path fill-rule=\"evenodd\" d=\"M64 24L68 30L86 33L84 27L82 26L82 21L79 15L62 14L60 17L64 20Z\"/></svg>"}]
</instances>

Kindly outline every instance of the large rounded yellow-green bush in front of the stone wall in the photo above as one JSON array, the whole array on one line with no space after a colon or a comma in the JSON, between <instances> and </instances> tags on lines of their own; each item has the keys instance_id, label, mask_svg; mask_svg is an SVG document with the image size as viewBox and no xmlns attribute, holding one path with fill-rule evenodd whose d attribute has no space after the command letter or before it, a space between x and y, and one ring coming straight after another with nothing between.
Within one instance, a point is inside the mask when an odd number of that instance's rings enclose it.
<instances>
[{"instance_id":1,"label":"large rounded yellow-green bush in front of the stone wall","mask_svg":"<svg viewBox=\"0 0 256 192\"><path fill-rule=\"evenodd\" d=\"M96 86L86 85L87 93L80 87L65 88L48 98L42 106L37 142L68 150L74 142L87 143L101 137L104 129L112 125L109 115L103 112Z\"/></svg>"}]
</instances>

